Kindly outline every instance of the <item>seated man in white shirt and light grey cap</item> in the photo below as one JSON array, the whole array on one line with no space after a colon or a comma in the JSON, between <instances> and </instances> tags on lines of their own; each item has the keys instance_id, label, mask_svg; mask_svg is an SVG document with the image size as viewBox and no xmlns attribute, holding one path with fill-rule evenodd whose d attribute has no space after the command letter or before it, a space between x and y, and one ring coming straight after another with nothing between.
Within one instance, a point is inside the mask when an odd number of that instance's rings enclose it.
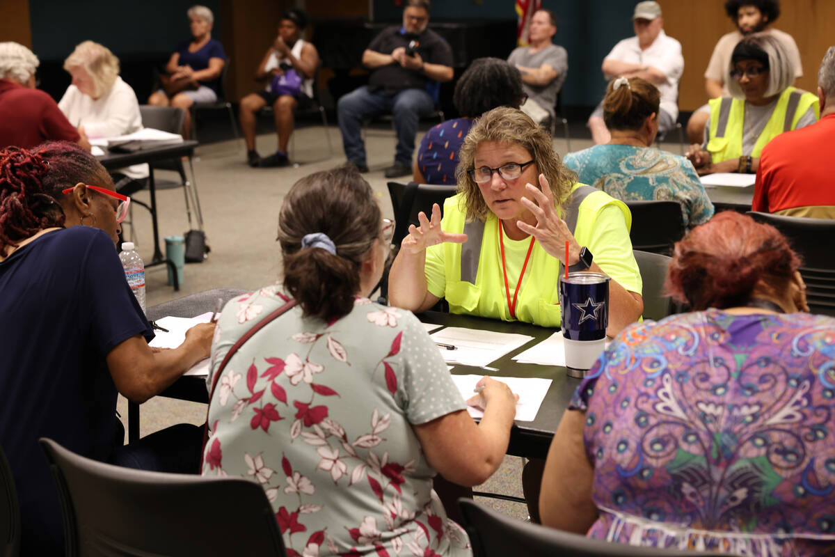
<instances>
[{"instance_id":1,"label":"seated man in white shirt and light grey cap","mask_svg":"<svg viewBox=\"0 0 835 557\"><path fill-rule=\"evenodd\" d=\"M655 84L661 94L658 131L664 133L678 118L678 83L684 72L681 43L664 33L664 20L657 2L640 2L632 16L635 37L625 38L603 59L607 79L643 78ZM603 104L591 113L588 122L595 144L609 143L609 129L603 122Z\"/></svg>"}]
</instances>

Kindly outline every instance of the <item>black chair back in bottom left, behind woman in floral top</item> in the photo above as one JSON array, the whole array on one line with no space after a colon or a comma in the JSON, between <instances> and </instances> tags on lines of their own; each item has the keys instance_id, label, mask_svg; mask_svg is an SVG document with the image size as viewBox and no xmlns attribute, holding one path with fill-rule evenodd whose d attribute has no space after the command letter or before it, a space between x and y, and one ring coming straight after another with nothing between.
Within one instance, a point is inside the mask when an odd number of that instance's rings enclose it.
<instances>
[{"instance_id":1,"label":"black chair back in bottom left, behind woman in floral top","mask_svg":"<svg viewBox=\"0 0 835 557\"><path fill-rule=\"evenodd\" d=\"M286 554L259 484L120 468L52 439L40 443L58 484L71 557ZM221 515L222 527L211 523Z\"/></svg>"}]
</instances>

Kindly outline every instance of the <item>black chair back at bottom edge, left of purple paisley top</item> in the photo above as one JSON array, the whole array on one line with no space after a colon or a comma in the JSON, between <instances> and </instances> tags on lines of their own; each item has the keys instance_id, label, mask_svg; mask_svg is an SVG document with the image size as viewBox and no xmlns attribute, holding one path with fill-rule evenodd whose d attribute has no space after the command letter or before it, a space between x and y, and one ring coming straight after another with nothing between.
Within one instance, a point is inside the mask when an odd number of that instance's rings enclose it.
<instances>
[{"instance_id":1,"label":"black chair back at bottom edge, left of purple paisley top","mask_svg":"<svg viewBox=\"0 0 835 557\"><path fill-rule=\"evenodd\" d=\"M714 557L726 555L712 552L679 551L613 544L600 539L590 539L512 519L505 514L475 503L470 499L458 499L464 516L464 528L473 545L474 557Z\"/></svg>"}]
</instances>

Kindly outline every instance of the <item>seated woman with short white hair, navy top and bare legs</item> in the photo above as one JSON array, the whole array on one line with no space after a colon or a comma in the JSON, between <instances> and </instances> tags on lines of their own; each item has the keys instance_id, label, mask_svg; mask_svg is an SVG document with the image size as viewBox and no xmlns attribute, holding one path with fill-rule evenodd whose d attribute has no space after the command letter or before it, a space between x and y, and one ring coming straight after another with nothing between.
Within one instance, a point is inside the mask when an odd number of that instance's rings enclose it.
<instances>
[{"instance_id":1,"label":"seated woman with short white hair, navy top and bare legs","mask_svg":"<svg viewBox=\"0 0 835 557\"><path fill-rule=\"evenodd\" d=\"M226 54L220 41L211 38L215 16L205 6L192 6L188 11L191 39L178 44L161 76L162 89L155 91L148 104L185 109L183 137L191 129L189 109L195 103L214 103L220 87L220 75Z\"/></svg>"}]
</instances>

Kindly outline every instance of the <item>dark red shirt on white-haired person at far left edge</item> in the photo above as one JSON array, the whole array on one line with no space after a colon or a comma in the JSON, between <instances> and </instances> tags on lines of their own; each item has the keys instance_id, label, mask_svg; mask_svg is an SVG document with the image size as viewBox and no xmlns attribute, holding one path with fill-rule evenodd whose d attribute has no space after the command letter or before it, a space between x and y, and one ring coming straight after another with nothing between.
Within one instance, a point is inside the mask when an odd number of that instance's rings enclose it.
<instances>
[{"instance_id":1,"label":"dark red shirt on white-haired person at far left edge","mask_svg":"<svg viewBox=\"0 0 835 557\"><path fill-rule=\"evenodd\" d=\"M0 149L32 149L48 139L76 142L79 137L48 94L0 79Z\"/></svg>"}]
</instances>

